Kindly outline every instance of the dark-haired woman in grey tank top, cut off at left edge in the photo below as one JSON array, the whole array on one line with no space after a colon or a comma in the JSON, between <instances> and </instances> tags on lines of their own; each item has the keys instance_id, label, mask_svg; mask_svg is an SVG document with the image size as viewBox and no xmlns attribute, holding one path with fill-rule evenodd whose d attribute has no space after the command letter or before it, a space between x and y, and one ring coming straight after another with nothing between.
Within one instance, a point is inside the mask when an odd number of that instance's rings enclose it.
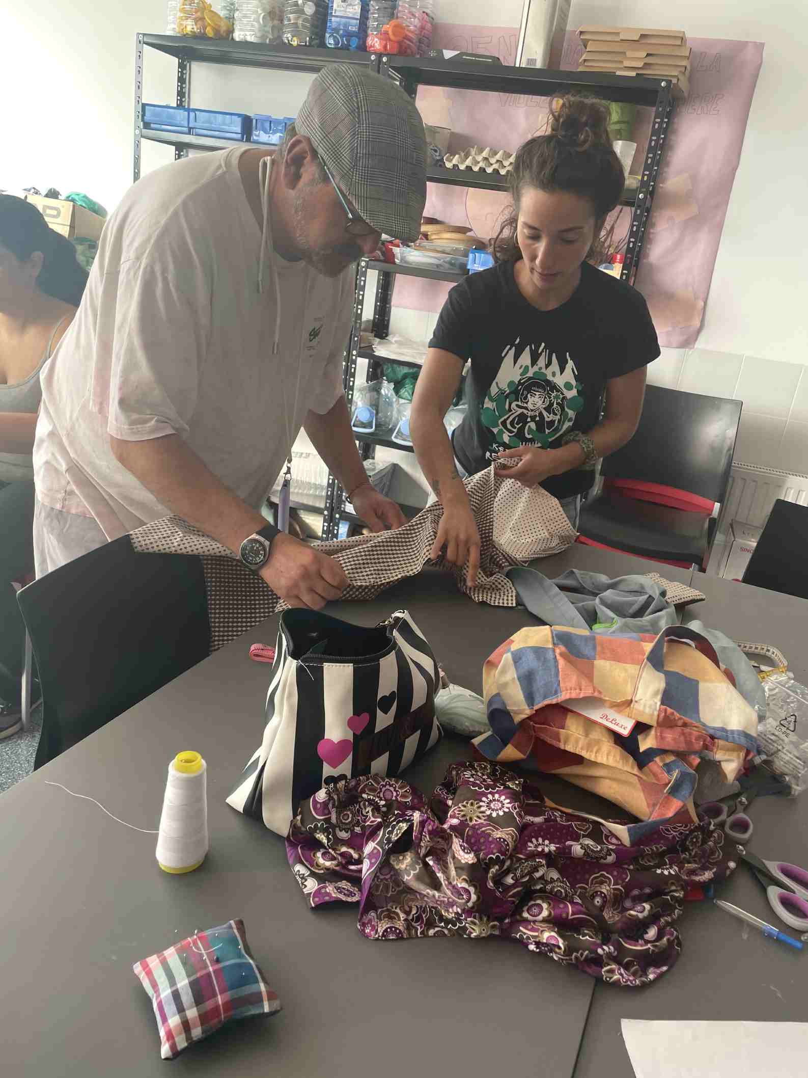
<instances>
[{"instance_id":1,"label":"dark-haired woman in grey tank top, cut off at left edge","mask_svg":"<svg viewBox=\"0 0 808 1078\"><path fill-rule=\"evenodd\" d=\"M72 244L23 198L0 195L0 738L20 727L25 625L12 581L33 569L33 431L40 372L87 274Z\"/></svg>"}]
</instances>

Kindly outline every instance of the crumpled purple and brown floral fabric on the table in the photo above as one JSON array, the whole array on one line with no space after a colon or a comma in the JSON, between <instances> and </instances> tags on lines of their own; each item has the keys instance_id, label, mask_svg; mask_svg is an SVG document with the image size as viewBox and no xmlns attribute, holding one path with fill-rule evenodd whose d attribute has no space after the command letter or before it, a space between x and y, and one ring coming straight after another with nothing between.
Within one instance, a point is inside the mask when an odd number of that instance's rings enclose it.
<instances>
[{"instance_id":1,"label":"crumpled purple and brown floral fabric on the table","mask_svg":"<svg viewBox=\"0 0 808 1078\"><path fill-rule=\"evenodd\" d=\"M358 902L368 939L500 936L638 986L677 960L685 892L737 847L711 824L626 846L494 763L452 764L428 803L396 778L330 782L301 805L287 856L312 908Z\"/></svg>"}]
</instances>

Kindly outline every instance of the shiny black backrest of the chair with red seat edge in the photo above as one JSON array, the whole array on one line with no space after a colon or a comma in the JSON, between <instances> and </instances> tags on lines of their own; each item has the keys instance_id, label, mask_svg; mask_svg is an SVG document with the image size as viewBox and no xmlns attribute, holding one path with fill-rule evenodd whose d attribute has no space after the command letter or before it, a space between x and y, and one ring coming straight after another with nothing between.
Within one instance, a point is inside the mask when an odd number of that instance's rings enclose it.
<instances>
[{"instance_id":1,"label":"shiny black backrest of the chair with red seat edge","mask_svg":"<svg viewBox=\"0 0 808 1078\"><path fill-rule=\"evenodd\" d=\"M647 386L637 433L603 460L601 474L723 502L740 413L740 401Z\"/></svg>"}]
</instances>

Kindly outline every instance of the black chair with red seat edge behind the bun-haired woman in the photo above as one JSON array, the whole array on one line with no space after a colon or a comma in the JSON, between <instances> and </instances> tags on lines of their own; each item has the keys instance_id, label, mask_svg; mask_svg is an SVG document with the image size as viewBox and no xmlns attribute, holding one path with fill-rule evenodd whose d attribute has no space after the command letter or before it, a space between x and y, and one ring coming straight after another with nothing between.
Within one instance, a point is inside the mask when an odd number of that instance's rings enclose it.
<instances>
[{"instance_id":1,"label":"black chair with red seat edge behind the bun-haired woman","mask_svg":"<svg viewBox=\"0 0 808 1078\"><path fill-rule=\"evenodd\" d=\"M740 413L740 401L649 386L637 433L603 460L579 542L707 566Z\"/></svg>"}]
</instances>

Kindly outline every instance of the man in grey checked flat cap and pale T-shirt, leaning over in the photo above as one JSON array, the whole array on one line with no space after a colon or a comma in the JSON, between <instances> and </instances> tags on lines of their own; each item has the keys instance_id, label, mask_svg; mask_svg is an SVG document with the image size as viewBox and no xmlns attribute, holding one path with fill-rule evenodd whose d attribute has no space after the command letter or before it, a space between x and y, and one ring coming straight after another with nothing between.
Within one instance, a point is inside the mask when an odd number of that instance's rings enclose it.
<instances>
[{"instance_id":1,"label":"man in grey checked flat cap and pale T-shirt, leaning over","mask_svg":"<svg viewBox=\"0 0 808 1078\"><path fill-rule=\"evenodd\" d=\"M417 238L426 155L415 102L337 64L277 151L199 154L130 189L42 382L38 575L176 513L290 605L338 598L338 563L261 506L303 426L374 530L404 523L367 481L343 356L352 265L382 231Z\"/></svg>"}]
</instances>

